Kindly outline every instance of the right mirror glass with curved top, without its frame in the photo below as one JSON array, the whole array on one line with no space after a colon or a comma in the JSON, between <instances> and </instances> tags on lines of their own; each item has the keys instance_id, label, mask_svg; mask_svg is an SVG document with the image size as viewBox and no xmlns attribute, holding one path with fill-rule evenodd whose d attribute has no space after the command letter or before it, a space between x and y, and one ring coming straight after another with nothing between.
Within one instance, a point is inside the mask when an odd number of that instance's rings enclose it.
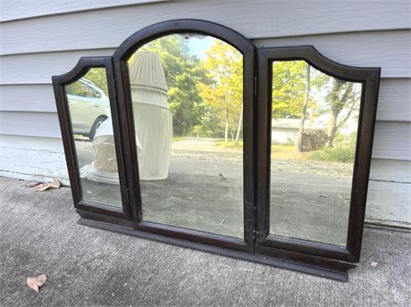
<instances>
[{"instance_id":1,"label":"right mirror glass with curved top, without its frame","mask_svg":"<svg viewBox=\"0 0 411 307\"><path fill-rule=\"evenodd\" d=\"M273 62L270 234L346 245L361 88Z\"/></svg>"}]
</instances>

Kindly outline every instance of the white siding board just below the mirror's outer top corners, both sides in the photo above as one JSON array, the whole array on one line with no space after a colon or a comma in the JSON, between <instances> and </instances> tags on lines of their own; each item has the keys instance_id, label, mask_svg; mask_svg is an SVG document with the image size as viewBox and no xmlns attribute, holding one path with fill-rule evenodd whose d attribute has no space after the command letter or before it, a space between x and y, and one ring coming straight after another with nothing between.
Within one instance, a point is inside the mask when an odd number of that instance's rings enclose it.
<instances>
[{"instance_id":1,"label":"white siding board just below the mirror's outer top corners, both sides","mask_svg":"<svg viewBox=\"0 0 411 307\"><path fill-rule=\"evenodd\" d=\"M56 112L51 84L0 85L0 111ZM382 79L377 120L411 121L411 79Z\"/></svg>"}]
</instances>

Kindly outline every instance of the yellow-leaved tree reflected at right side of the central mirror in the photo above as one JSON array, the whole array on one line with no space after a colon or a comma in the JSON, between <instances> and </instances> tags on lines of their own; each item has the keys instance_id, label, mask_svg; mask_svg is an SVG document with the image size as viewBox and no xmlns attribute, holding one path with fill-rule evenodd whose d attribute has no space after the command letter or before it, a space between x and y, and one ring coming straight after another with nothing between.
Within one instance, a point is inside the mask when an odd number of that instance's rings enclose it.
<instances>
[{"instance_id":1,"label":"yellow-leaved tree reflected at right side of the central mirror","mask_svg":"<svg viewBox=\"0 0 411 307\"><path fill-rule=\"evenodd\" d=\"M200 95L206 106L216 114L224 127L225 142L228 142L229 130L232 137L242 126L242 55L232 46L215 40L206 51L204 68L209 84L198 84Z\"/></svg>"}]
</instances>

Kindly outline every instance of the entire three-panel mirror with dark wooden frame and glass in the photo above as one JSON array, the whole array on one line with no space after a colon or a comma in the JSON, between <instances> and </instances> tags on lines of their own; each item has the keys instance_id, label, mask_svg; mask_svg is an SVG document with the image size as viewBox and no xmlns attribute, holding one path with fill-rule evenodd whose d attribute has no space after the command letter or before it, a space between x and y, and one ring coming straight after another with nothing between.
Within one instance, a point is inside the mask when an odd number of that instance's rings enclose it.
<instances>
[{"instance_id":1,"label":"entire three-panel mirror with dark wooden frame and glass","mask_svg":"<svg viewBox=\"0 0 411 307\"><path fill-rule=\"evenodd\" d=\"M180 20L53 82L80 223L347 280L379 69Z\"/></svg>"}]
</instances>

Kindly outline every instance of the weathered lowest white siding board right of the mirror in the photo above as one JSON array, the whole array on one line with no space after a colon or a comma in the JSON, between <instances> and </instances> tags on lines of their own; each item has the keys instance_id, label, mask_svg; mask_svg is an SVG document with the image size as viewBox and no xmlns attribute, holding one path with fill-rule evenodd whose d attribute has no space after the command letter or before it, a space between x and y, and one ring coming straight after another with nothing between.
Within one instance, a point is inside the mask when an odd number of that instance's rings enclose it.
<instances>
[{"instance_id":1,"label":"weathered lowest white siding board right of the mirror","mask_svg":"<svg viewBox=\"0 0 411 307\"><path fill-rule=\"evenodd\" d=\"M411 185L371 180L365 210L366 218L411 223Z\"/></svg>"}]
</instances>

